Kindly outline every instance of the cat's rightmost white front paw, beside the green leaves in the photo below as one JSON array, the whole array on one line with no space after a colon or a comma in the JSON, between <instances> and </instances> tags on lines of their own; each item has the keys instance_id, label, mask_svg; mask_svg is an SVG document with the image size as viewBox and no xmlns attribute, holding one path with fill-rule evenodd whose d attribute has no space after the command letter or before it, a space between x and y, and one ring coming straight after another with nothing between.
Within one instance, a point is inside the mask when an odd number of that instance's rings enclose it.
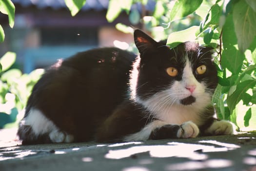
<instances>
[{"instance_id":1,"label":"cat's rightmost white front paw, beside the green leaves","mask_svg":"<svg viewBox=\"0 0 256 171\"><path fill-rule=\"evenodd\" d=\"M215 121L210 128L205 131L207 134L211 135L230 135L236 132L235 126L225 120Z\"/></svg>"}]
</instances>

